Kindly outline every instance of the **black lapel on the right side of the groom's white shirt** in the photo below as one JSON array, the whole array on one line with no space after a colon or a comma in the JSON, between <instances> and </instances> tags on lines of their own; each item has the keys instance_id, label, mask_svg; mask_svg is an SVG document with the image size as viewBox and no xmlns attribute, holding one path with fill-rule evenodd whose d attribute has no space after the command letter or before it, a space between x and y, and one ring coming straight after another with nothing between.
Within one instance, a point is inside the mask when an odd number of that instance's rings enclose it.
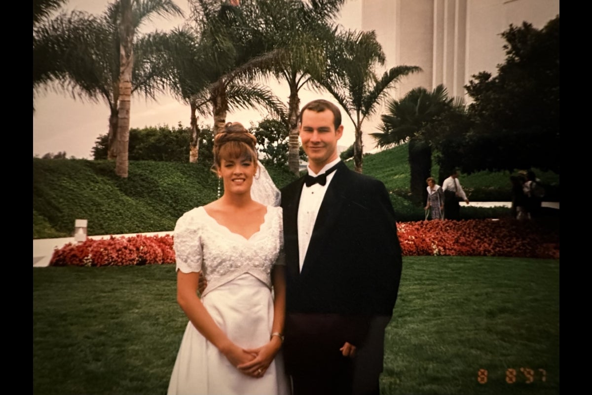
<instances>
[{"instance_id":1,"label":"black lapel on the right side of the groom's white shirt","mask_svg":"<svg viewBox=\"0 0 592 395\"><path fill-rule=\"evenodd\" d=\"M334 224L342 213L343 203L345 202L343 191L348 187L349 171L345 163L341 162L329 187L327 187L323 203L318 209L317 219L314 222L313 235L310 238L301 275L305 275L310 270L310 266L314 265L318 255L326 246L327 236L335 230Z\"/></svg>"}]
</instances>

